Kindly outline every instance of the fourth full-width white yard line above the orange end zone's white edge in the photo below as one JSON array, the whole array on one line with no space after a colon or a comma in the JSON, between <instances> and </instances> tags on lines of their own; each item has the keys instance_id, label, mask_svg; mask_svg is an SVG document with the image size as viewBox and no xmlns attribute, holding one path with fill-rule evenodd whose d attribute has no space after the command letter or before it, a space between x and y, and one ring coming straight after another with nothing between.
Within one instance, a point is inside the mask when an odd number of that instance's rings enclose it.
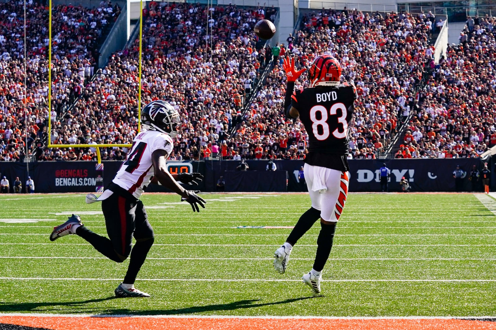
<instances>
[{"instance_id":1,"label":"fourth full-width white yard line above the orange end zone's white edge","mask_svg":"<svg viewBox=\"0 0 496 330\"><path fill-rule=\"evenodd\" d=\"M48 234L1 233L0 235L46 236ZM155 236L287 236L287 234L155 234ZM318 234L305 236L318 236ZM496 234L337 234L335 236L496 236Z\"/></svg>"}]
</instances>

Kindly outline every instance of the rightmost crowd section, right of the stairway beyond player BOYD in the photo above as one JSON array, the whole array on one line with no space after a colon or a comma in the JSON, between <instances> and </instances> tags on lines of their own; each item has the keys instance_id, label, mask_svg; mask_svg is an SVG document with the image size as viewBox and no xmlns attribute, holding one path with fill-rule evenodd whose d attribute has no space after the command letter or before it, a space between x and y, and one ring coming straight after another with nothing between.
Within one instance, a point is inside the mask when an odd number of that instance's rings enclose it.
<instances>
[{"instance_id":1,"label":"rightmost crowd section, right of the stairway beyond player BOYD","mask_svg":"<svg viewBox=\"0 0 496 330\"><path fill-rule=\"evenodd\" d=\"M396 157L478 157L496 145L495 19L472 21L460 44L429 68L426 105L413 117Z\"/></svg>"}]
</instances>

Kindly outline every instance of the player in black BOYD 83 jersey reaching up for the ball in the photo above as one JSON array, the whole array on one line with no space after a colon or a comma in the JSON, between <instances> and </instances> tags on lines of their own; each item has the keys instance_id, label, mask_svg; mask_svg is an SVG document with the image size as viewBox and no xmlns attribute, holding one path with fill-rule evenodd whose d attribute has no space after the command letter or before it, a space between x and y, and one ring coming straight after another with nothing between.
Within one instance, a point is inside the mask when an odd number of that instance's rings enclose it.
<instances>
[{"instance_id":1,"label":"player in black BOYD 83 jersey reaching up for the ball","mask_svg":"<svg viewBox=\"0 0 496 330\"><path fill-rule=\"evenodd\" d=\"M352 83L340 84L341 65L331 55L313 60L308 75L310 87L303 90L293 91L295 81L306 69L297 71L295 60L289 57L284 59L283 68L287 78L285 115L290 119L300 117L309 135L304 173L311 207L274 253L274 267L284 274L291 249L320 219L315 262L310 273L302 278L319 293L322 269L329 258L336 223L348 194L349 125L358 95Z\"/></svg>"}]
</instances>

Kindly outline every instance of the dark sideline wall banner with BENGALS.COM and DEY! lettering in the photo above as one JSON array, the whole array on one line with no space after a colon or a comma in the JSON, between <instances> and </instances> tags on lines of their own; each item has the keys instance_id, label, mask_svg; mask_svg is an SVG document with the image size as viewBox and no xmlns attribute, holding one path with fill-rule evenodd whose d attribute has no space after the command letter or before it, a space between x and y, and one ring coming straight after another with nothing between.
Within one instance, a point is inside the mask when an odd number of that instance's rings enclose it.
<instances>
[{"instance_id":1,"label":"dark sideline wall banner with BENGALS.COM and DEY! lettering","mask_svg":"<svg viewBox=\"0 0 496 330\"><path fill-rule=\"evenodd\" d=\"M251 171L265 171L267 160L248 160L249 170L243 177L249 177ZM114 179L121 166L120 161L104 161L102 167L97 167L96 162L72 161L72 162L37 162L29 164L29 173L26 164L19 162L0 162L0 175L5 175L13 186L15 177L19 177L24 184L30 175L35 183L35 192L95 192L97 187L106 187ZM379 168L382 163L391 170L389 178L389 191L401 191L399 182L405 177L411 187L411 191L455 191L455 180L453 171L456 165L467 172L464 179L464 190L471 191L472 185L469 181L470 171L473 165L481 171L483 162L479 158L464 159L389 159L389 160L350 160L350 188L349 191L380 191ZM198 189L201 191L215 191L217 180L226 171L236 171L240 164L234 160L206 160L206 161L168 161L168 169L171 173L199 172L204 175L204 180L199 186L185 186L187 189ZM287 191L306 191L306 186L298 179L298 171L303 166L301 160L276 160L278 171L287 172ZM492 176L495 176L493 167ZM256 187L267 184L261 176L253 174L253 185ZM256 179L258 178L258 180ZM226 187L237 187L244 189L238 181L240 176L231 175L226 178ZM235 182L228 182L234 180ZM260 182L259 182L260 181ZM491 190L495 190L496 178L492 178ZM480 182L479 182L480 184ZM101 189L101 188L100 188ZM267 191L273 189L266 187ZM13 189L10 189L13 192ZM24 190L24 189L23 189ZM281 189L285 191L284 189ZM150 185L146 191L167 191L164 187ZM246 190L245 190L246 191ZM261 190L262 191L262 190ZM478 186L482 191L482 184Z\"/></svg>"}]
</instances>

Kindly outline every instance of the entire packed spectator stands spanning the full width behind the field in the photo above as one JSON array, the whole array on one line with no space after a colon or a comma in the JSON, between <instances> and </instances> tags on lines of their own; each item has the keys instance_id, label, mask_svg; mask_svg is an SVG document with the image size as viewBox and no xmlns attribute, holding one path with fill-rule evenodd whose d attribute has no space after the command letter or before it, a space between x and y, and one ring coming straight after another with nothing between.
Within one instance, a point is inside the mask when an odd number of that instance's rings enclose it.
<instances>
[{"instance_id":1,"label":"entire packed spectator stands spanning the full width behind the field","mask_svg":"<svg viewBox=\"0 0 496 330\"><path fill-rule=\"evenodd\" d=\"M61 24L53 31L50 115L44 106L48 10L28 5L25 95L23 7L10 1L0 2L0 9L0 160L23 160L26 149L37 161L94 160L95 147L63 144L132 141L138 130L138 40L97 68L98 49L121 8L110 1L98 8L53 8ZM182 134L172 159L304 158L303 125L281 115L282 59L293 55L303 66L322 53L340 59L343 79L357 86L349 158L375 159L386 150L403 158L472 157L496 144L493 67L478 66L494 64L492 18L467 27L461 44L436 64L430 14L308 11L295 35L271 49L252 30L276 14L273 7L168 2L144 9L141 102L167 99L181 109ZM306 81L304 73L297 88L307 87ZM405 121L408 130L400 132ZM46 148L48 139L60 147ZM127 148L101 151L103 160L122 160Z\"/></svg>"}]
</instances>

